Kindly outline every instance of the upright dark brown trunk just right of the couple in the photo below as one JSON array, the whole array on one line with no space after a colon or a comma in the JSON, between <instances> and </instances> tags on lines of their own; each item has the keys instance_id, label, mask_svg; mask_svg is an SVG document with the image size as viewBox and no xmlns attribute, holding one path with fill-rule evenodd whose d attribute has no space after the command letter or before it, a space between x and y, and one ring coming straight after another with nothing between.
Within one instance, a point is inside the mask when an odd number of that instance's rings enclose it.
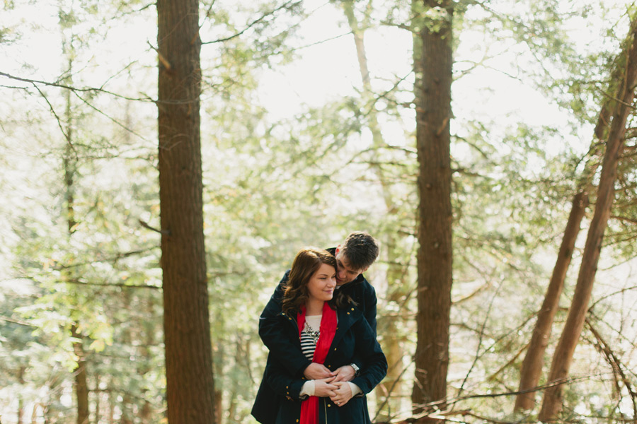
<instances>
[{"instance_id":1,"label":"upright dark brown trunk just right of the couple","mask_svg":"<svg viewBox=\"0 0 637 424\"><path fill-rule=\"evenodd\" d=\"M449 312L452 288L452 208L449 120L452 85L450 0L416 0L414 71L418 148L418 342L415 351L415 412L447 396ZM437 8L437 13L426 11ZM444 404L441 405L445 407Z\"/></svg>"}]
</instances>

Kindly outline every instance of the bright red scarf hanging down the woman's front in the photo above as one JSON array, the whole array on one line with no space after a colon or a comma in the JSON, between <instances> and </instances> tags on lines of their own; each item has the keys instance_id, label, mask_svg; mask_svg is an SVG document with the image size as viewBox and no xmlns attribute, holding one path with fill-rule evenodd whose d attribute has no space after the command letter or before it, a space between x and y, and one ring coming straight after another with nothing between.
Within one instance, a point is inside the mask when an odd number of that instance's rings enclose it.
<instances>
[{"instance_id":1,"label":"bright red scarf hanging down the woman's front","mask_svg":"<svg viewBox=\"0 0 637 424\"><path fill-rule=\"evenodd\" d=\"M305 306L301 307L301 312L297 314L299 323L299 337L305 326ZM321 317L321 327L319 329L319 341L316 342L316 350L312 362L322 364L330 351L330 346L336 334L336 311L327 302L323 305L323 317ZM316 424L319 421L319 397L309 396L301 404L301 423Z\"/></svg>"}]
</instances>

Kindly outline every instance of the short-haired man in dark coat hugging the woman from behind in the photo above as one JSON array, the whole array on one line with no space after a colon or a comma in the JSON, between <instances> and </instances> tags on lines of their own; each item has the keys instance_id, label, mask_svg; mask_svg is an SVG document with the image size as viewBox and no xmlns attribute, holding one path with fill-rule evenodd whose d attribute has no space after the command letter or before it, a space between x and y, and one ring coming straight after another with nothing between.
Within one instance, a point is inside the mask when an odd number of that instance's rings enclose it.
<instances>
[{"instance_id":1,"label":"short-haired man in dark coat hugging the woman from behind","mask_svg":"<svg viewBox=\"0 0 637 424\"><path fill-rule=\"evenodd\" d=\"M362 275L379 254L379 247L374 237L367 232L352 232L343 242L335 248L327 249L336 257L336 290L343 290L363 311L369 326L376 334L376 291L374 287ZM270 353L282 358L289 372L306 379L324 379L335 377L333 382L349 382L362 367L362 362L354 360L352 364L334 370L328 370L323 364L312 363L298 348L294 348L286 338L282 336L283 329L277 326L277 315L281 312L281 299L287 282L289 270L281 279L270 298L268 305L259 318L259 336Z\"/></svg>"}]
</instances>

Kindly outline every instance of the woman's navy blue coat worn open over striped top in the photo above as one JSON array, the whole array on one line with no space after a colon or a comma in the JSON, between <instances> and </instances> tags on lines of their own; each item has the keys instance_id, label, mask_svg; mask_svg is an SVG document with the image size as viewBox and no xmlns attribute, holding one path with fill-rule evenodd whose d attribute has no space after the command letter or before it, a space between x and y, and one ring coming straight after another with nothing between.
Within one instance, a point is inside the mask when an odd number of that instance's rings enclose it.
<instances>
[{"instance_id":1,"label":"woman's navy blue coat worn open over striped top","mask_svg":"<svg viewBox=\"0 0 637 424\"><path fill-rule=\"evenodd\" d=\"M387 372L387 361L369 326L363 310L354 305L337 311L338 326L324 365L330 370L352 363L353 358L362 361L360 375L352 380L363 394L350 399L343 406L336 406L329 398L319 399L319 423L369 424L365 394L376 387ZM276 324L282 329L282 337L294 351L301 352L297 317L280 312ZM270 352L265 365L263 381L259 387L252 415L263 424L297 423L301 416L299 394L304 382L302 375L290 372L285 359Z\"/></svg>"}]
</instances>

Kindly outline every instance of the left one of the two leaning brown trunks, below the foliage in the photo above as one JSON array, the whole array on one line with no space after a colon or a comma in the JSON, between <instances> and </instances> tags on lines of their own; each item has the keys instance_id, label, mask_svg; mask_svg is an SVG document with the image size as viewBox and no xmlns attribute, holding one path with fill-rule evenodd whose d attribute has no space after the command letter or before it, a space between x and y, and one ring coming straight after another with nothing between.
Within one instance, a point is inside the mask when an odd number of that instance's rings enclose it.
<instances>
[{"instance_id":1,"label":"left one of the two leaning brown trunks, below the foliage","mask_svg":"<svg viewBox=\"0 0 637 424\"><path fill-rule=\"evenodd\" d=\"M560 296L564 287L566 271L573 258L573 249L575 249L575 240L580 233L580 225L584 218L586 208L588 206L587 192L579 192L573 197L573 204L570 208L570 215L566 223L566 230L562 238L562 244L549 287L544 295L544 302L537 314L537 322L533 329L527 354L522 362L522 370L520 371L520 388L519 391L532 389L537 386L544 365L544 353L546 346L549 345L551 338L551 327L553 326L553 318L558 310ZM515 398L515 411L525 411L535 406L535 392L518 394Z\"/></svg>"}]
</instances>

